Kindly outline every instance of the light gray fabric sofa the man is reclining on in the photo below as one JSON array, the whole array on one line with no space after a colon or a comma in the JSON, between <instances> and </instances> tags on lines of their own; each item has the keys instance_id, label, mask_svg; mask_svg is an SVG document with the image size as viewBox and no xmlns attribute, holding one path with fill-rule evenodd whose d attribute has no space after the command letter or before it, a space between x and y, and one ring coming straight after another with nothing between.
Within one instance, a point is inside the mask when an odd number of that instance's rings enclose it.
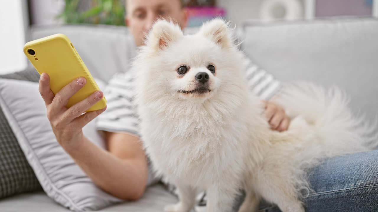
<instances>
[{"instance_id":1,"label":"light gray fabric sofa the man is reclining on","mask_svg":"<svg viewBox=\"0 0 378 212\"><path fill-rule=\"evenodd\" d=\"M132 37L124 27L35 27L31 29L31 40L55 33L68 35L91 74L104 81L127 70L129 59L135 55ZM277 79L338 85L352 97L355 112L366 113L371 120L378 114L378 19L346 17L272 23L246 20L238 26L237 34L246 54ZM162 211L164 205L176 201L174 195L156 185L147 189L139 201L101 211ZM37 192L0 200L0 211L68 209Z\"/></svg>"}]
</instances>

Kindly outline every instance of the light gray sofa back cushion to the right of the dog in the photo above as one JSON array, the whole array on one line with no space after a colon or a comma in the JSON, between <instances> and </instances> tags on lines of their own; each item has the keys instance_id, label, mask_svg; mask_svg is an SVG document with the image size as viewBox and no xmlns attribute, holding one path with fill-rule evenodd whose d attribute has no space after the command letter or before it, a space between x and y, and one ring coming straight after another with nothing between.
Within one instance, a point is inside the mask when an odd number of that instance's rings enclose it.
<instances>
[{"instance_id":1,"label":"light gray sofa back cushion to the right of the dog","mask_svg":"<svg viewBox=\"0 0 378 212\"><path fill-rule=\"evenodd\" d=\"M355 112L378 114L377 18L246 20L241 31L246 54L277 79L337 85Z\"/></svg>"}]
</instances>

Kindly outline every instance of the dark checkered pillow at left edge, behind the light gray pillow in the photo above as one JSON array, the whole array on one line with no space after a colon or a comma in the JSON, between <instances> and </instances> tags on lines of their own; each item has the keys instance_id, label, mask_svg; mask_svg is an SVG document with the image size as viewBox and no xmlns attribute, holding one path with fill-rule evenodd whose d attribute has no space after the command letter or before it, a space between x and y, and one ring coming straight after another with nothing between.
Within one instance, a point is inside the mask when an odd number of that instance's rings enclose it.
<instances>
[{"instance_id":1,"label":"dark checkered pillow at left edge, behind the light gray pillow","mask_svg":"<svg viewBox=\"0 0 378 212\"><path fill-rule=\"evenodd\" d=\"M0 78L37 82L39 74L35 69L27 69ZM0 199L36 190L42 187L0 108Z\"/></svg>"}]
</instances>

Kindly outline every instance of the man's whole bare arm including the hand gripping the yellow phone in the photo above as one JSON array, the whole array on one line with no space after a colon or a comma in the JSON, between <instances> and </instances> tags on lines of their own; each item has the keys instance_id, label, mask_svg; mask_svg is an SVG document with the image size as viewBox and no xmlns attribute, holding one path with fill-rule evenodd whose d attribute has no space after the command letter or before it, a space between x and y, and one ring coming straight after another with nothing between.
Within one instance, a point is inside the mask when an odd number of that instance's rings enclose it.
<instances>
[{"instance_id":1,"label":"man's whole bare arm including the hand gripping the yellow phone","mask_svg":"<svg viewBox=\"0 0 378 212\"><path fill-rule=\"evenodd\" d=\"M139 138L129 134L106 133L108 152L84 136L82 128L106 109L84 113L101 100L101 91L96 91L70 108L65 107L68 99L85 83L86 79L80 77L54 95L50 90L50 77L46 73L41 75L39 92L45 101L51 128L60 146L95 184L116 197L136 200L142 196L147 181L147 160Z\"/></svg>"}]
</instances>

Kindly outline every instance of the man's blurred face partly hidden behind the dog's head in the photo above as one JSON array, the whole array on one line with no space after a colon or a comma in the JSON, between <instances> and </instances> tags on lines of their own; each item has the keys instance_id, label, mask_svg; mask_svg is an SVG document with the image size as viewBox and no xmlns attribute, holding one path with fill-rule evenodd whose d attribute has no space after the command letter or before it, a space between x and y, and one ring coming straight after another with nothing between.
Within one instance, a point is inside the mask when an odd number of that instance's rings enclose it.
<instances>
[{"instance_id":1,"label":"man's blurred face partly hidden behind the dog's head","mask_svg":"<svg viewBox=\"0 0 378 212\"><path fill-rule=\"evenodd\" d=\"M127 0L125 22L133 34L136 46L143 45L144 35L157 18L174 20L181 28L186 26L187 16L180 0Z\"/></svg>"}]
</instances>

